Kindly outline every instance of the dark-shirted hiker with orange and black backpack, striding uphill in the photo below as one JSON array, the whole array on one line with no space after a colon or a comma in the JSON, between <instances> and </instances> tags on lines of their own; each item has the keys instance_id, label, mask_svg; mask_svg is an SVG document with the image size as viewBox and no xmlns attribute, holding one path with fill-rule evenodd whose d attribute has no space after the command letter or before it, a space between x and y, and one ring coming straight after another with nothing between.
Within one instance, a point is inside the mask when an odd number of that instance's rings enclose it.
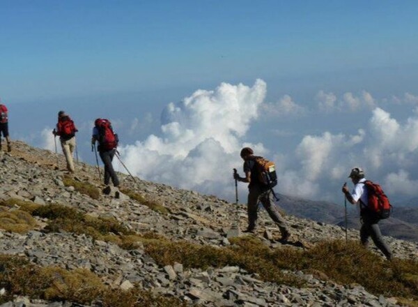
<instances>
[{"instance_id":1,"label":"dark-shirted hiker with orange and black backpack, striding uphill","mask_svg":"<svg viewBox=\"0 0 418 307\"><path fill-rule=\"evenodd\" d=\"M237 181L248 183L248 227L244 232L254 233L256 220L258 218L258 202L261 202L270 218L272 218L274 223L279 227L281 241L288 241L291 236L288 225L286 220L279 214L279 211L273 202L274 192L272 187L277 184L274 163L270 163L270 161L262 157L254 156L254 151L249 147L243 148L240 156L244 160L245 177L240 177L237 172L234 172L233 178Z\"/></svg>"}]
</instances>

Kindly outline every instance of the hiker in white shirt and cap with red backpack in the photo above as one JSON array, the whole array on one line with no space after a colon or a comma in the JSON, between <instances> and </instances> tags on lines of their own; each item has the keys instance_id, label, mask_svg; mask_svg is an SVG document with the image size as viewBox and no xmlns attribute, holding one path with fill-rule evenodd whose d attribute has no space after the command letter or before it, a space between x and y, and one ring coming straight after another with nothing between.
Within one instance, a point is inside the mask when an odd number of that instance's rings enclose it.
<instances>
[{"instance_id":1,"label":"hiker in white shirt and cap with red backpack","mask_svg":"<svg viewBox=\"0 0 418 307\"><path fill-rule=\"evenodd\" d=\"M355 185L353 192L350 193L347 184L343 185L343 193L346 199L351 204L359 204L360 206L360 220L362 227L360 228L360 241L363 246L369 245L369 237L374 244L382 251L387 260L392 258L392 251L389 246L383 241L379 220L388 218L390 213L389 200L378 184L366 180L364 178L364 171L360 167L355 167L351 170L348 178L353 181Z\"/></svg>"}]
</instances>

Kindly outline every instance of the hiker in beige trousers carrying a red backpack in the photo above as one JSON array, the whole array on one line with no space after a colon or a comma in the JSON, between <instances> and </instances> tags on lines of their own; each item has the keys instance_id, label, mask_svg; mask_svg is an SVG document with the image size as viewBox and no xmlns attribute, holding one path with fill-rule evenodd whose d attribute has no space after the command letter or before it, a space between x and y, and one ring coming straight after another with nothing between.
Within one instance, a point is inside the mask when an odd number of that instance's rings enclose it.
<instances>
[{"instance_id":1,"label":"hiker in beige trousers carrying a red backpack","mask_svg":"<svg viewBox=\"0 0 418 307\"><path fill-rule=\"evenodd\" d=\"M58 112L58 123L56 123L56 129L52 131L54 137L59 135L59 140L61 141L61 147L67 161L67 170L68 172L75 172L74 162L72 160L72 153L75 151L77 146L75 142L75 133L77 132L74 121L70 119L68 114L65 114L64 111Z\"/></svg>"}]
</instances>

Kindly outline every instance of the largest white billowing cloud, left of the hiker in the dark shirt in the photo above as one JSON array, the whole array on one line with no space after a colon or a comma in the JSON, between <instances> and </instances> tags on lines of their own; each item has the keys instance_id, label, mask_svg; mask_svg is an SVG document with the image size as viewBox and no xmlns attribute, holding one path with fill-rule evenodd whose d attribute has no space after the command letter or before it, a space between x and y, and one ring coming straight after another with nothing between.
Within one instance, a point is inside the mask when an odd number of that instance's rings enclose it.
<instances>
[{"instance_id":1,"label":"largest white billowing cloud, left of the hiker in the dark shirt","mask_svg":"<svg viewBox=\"0 0 418 307\"><path fill-rule=\"evenodd\" d=\"M225 195L265 93L263 80L253 87L222 83L213 91L195 91L167 105L160 135L122 147L121 157L141 178ZM263 144L250 145L265 151Z\"/></svg>"}]
</instances>

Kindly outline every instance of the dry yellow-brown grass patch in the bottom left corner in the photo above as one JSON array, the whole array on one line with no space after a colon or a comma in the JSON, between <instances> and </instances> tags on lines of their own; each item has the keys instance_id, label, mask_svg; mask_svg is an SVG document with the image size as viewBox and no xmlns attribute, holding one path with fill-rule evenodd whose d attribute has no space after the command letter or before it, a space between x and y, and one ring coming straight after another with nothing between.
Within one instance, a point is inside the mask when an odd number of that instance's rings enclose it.
<instances>
[{"instance_id":1,"label":"dry yellow-brown grass patch in the bottom left corner","mask_svg":"<svg viewBox=\"0 0 418 307\"><path fill-rule=\"evenodd\" d=\"M138 287L121 295L120 289L104 285L86 269L67 271L59 267L38 267L24 257L10 255L0 255L0 287L6 290L0 297L0 304L22 295L77 304L100 300L104 307L186 306L179 299L158 297Z\"/></svg>"}]
</instances>

